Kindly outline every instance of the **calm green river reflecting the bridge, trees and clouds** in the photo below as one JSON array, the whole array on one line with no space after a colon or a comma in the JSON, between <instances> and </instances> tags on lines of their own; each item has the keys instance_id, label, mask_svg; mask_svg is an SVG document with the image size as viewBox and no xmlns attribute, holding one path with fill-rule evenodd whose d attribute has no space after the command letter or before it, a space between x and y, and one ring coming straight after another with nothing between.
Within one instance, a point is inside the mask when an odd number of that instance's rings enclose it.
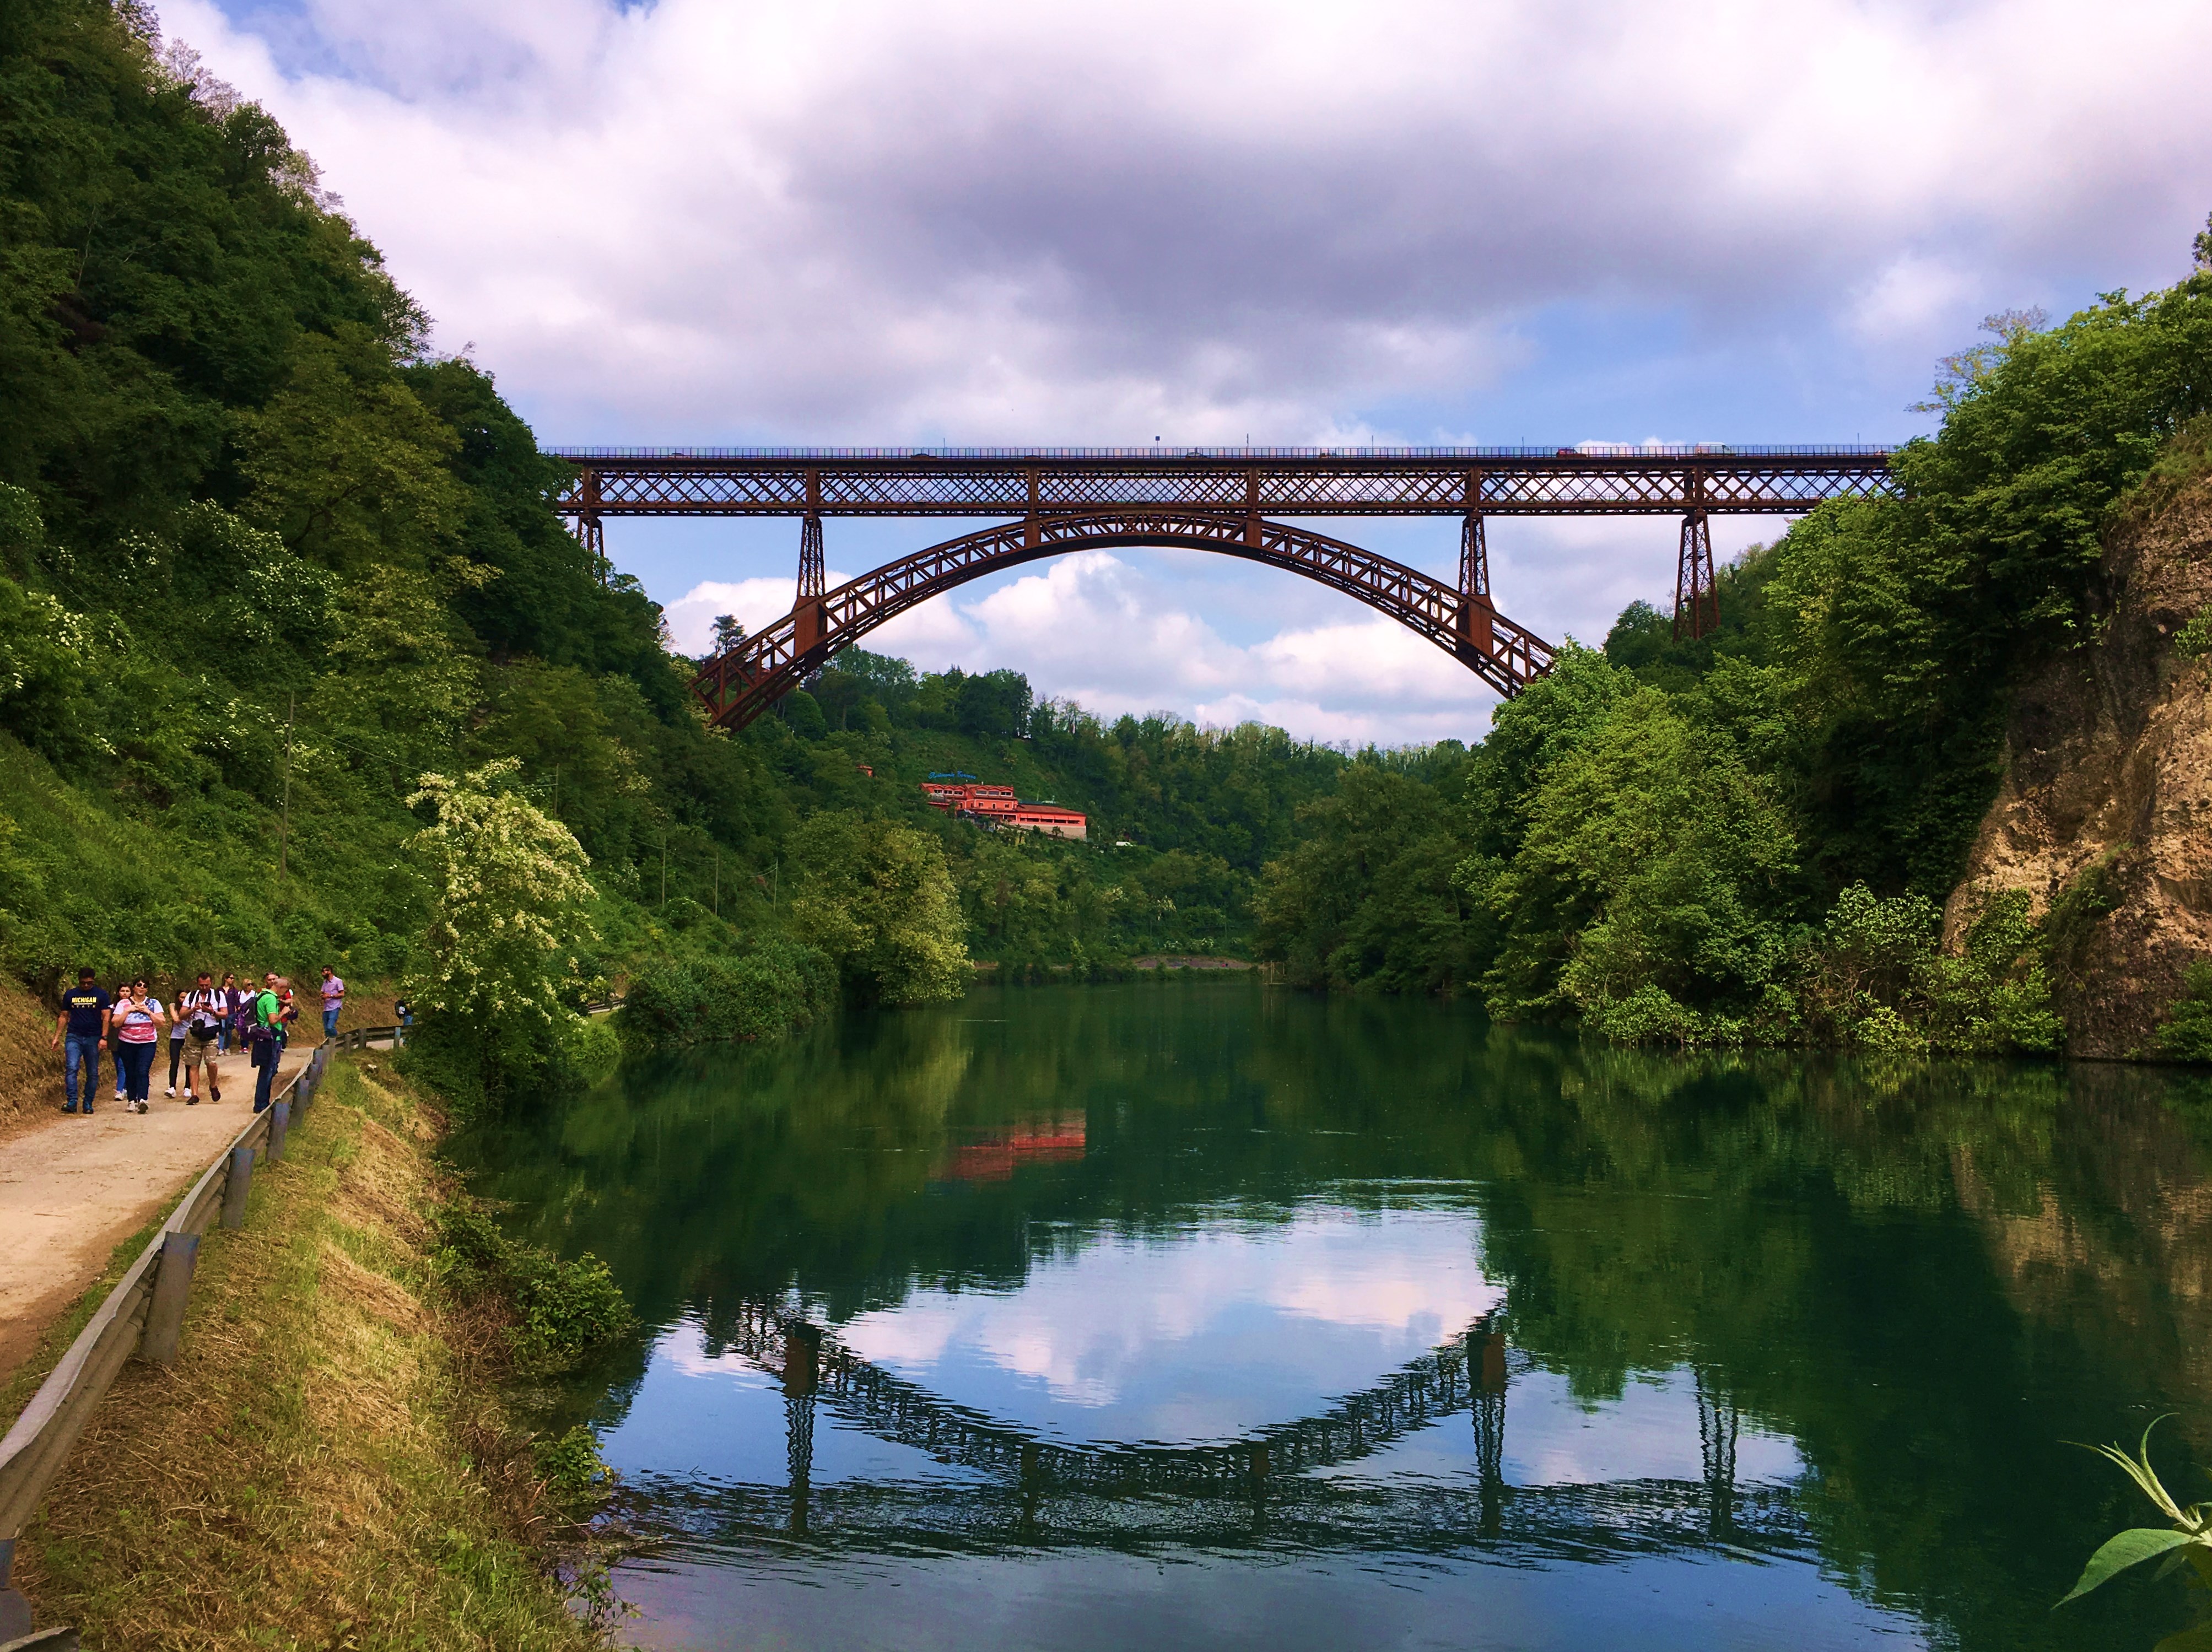
<instances>
[{"instance_id":1,"label":"calm green river reflecting the bridge, trees and clouds","mask_svg":"<svg viewBox=\"0 0 2212 1652\"><path fill-rule=\"evenodd\" d=\"M646 1329L655 1648L2143 1648L2068 1440L2212 1409L2212 1084L991 989L456 1143Z\"/></svg>"}]
</instances>

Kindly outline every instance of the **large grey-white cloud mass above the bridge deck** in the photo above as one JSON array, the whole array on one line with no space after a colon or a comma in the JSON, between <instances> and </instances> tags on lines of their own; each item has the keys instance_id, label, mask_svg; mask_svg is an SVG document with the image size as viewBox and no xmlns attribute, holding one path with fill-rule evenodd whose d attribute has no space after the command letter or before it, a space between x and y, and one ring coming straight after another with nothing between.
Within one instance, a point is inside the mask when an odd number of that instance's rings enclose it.
<instances>
[{"instance_id":1,"label":"large grey-white cloud mass above the bridge deck","mask_svg":"<svg viewBox=\"0 0 2212 1652\"><path fill-rule=\"evenodd\" d=\"M168 7L557 436L1281 440L1546 305L1849 323L2212 197L2197 4L301 15Z\"/></svg>"}]
</instances>

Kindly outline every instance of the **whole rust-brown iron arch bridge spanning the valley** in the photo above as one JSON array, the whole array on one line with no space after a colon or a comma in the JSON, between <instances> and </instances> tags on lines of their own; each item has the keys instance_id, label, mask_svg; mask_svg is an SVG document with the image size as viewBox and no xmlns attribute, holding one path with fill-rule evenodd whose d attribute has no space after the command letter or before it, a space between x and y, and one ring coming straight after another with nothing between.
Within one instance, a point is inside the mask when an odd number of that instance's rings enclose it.
<instances>
[{"instance_id":1,"label":"whole rust-brown iron arch bridge spanning the valley","mask_svg":"<svg viewBox=\"0 0 2212 1652\"><path fill-rule=\"evenodd\" d=\"M841 648L929 597L1037 557L1102 546L1186 546L1265 562L1365 602L1427 637L1504 697L1551 670L1553 648L1491 599L1493 515L1679 515L1674 630L1719 624L1710 517L1803 515L1896 491L1880 447L1577 449L568 449L555 500L606 568L611 515L796 515L792 613L706 661L692 692L743 728ZM1009 517L836 590L823 517ZM1460 577L1418 568L1283 517L1460 517Z\"/></svg>"}]
</instances>

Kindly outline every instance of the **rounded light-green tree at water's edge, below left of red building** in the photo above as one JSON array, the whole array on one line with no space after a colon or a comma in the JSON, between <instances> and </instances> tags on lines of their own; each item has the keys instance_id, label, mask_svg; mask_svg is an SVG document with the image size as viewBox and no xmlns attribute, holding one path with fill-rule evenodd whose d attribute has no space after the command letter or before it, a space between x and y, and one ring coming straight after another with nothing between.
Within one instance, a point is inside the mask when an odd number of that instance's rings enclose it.
<instances>
[{"instance_id":1,"label":"rounded light-green tree at water's edge, below left of red building","mask_svg":"<svg viewBox=\"0 0 2212 1652\"><path fill-rule=\"evenodd\" d=\"M967 989L967 935L945 851L889 820L816 814L792 838L792 929L883 1004L931 1004Z\"/></svg>"}]
</instances>

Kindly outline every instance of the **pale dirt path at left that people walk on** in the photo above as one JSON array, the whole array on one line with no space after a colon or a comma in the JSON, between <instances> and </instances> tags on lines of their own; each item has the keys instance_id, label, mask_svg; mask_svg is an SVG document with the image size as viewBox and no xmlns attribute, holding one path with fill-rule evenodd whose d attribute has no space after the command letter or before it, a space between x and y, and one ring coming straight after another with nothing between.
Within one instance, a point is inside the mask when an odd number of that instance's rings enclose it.
<instances>
[{"instance_id":1,"label":"pale dirt path at left that people walk on","mask_svg":"<svg viewBox=\"0 0 2212 1652\"><path fill-rule=\"evenodd\" d=\"M285 1050L279 1088L310 1055ZM190 1188L252 1117L254 1070L243 1055L223 1062L223 1099L197 1108L166 1099L157 1068L142 1115L111 1099L108 1064L100 1066L91 1119L55 1110L0 1148L0 1378L100 1278L115 1245Z\"/></svg>"}]
</instances>

